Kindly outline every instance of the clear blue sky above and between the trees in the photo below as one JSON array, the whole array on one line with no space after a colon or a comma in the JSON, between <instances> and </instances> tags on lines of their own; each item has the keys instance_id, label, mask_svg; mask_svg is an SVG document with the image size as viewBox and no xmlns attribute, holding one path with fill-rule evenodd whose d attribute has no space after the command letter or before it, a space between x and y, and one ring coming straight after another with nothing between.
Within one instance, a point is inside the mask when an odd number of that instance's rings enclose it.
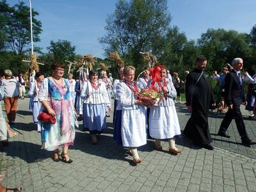
<instances>
[{"instance_id":1,"label":"clear blue sky above and between the trees","mask_svg":"<svg viewBox=\"0 0 256 192\"><path fill-rule=\"evenodd\" d=\"M34 43L47 52L51 40L68 40L77 54L104 58L99 38L106 34L108 15L118 0L31 0L42 22L41 42ZM7 0L10 5L19 0ZM29 6L29 1L24 0ZM207 29L223 28L250 33L256 24L255 0L168 0L171 26L178 26L189 39L196 40Z\"/></svg>"}]
</instances>

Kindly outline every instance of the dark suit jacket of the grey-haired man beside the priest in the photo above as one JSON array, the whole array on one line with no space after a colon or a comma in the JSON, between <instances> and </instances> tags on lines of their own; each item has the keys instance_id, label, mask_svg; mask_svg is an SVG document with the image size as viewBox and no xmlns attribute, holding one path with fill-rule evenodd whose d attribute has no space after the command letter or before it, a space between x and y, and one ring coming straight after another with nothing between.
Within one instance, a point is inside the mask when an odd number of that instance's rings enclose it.
<instances>
[{"instance_id":1,"label":"dark suit jacket of the grey-haired man beside the priest","mask_svg":"<svg viewBox=\"0 0 256 192\"><path fill-rule=\"evenodd\" d=\"M235 70L229 72L225 77L225 100L228 106L230 104L240 106L242 102L245 102L243 83L240 85Z\"/></svg>"}]
</instances>

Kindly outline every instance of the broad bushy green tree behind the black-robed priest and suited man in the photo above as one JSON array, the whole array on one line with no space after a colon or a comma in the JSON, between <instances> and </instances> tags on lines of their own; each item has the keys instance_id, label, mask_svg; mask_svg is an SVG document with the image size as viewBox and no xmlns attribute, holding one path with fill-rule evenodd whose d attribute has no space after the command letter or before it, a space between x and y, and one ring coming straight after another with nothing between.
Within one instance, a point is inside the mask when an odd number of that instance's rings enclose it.
<instances>
[{"instance_id":1,"label":"broad bushy green tree behind the black-robed priest and suited man","mask_svg":"<svg viewBox=\"0 0 256 192\"><path fill-rule=\"evenodd\" d=\"M198 46L202 54L207 57L208 70L218 70L225 63L230 63L234 58L243 58L247 63L252 55L252 49L249 46L250 36L246 33L225 29L208 29L198 40Z\"/></svg>"}]
</instances>

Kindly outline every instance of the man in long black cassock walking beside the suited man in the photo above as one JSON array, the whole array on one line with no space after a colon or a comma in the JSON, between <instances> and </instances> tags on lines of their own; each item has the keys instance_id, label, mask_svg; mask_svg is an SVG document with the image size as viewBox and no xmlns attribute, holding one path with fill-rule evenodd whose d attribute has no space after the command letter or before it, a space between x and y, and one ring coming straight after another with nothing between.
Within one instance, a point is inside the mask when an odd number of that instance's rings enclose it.
<instances>
[{"instance_id":1,"label":"man in long black cassock walking beside the suited man","mask_svg":"<svg viewBox=\"0 0 256 192\"><path fill-rule=\"evenodd\" d=\"M191 138L195 145L213 150L208 112L210 107L216 104L209 79L205 77L206 64L206 58L198 56L196 68L186 77L186 106L192 113L184 129L184 134Z\"/></svg>"}]
</instances>

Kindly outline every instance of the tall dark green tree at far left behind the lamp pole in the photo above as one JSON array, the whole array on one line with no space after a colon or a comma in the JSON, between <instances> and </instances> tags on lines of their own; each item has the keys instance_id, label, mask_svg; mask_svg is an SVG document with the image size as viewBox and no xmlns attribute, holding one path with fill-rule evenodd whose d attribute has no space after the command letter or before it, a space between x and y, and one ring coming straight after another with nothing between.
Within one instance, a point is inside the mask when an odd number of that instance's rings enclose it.
<instances>
[{"instance_id":1,"label":"tall dark green tree at far left behind the lamp pole","mask_svg":"<svg viewBox=\"0 0 256 192\"><path fill-rule=\"evenodd\" d=\"M15 54L28 52L31 44L29 7L22 1L10 7L5 0L1 0L0 5L5 9L5 12L1 13L1 20L4 23L2 29L6 38L6 48ZM33 41L39 42L42 24L35 19L36 15L39 13L32 10Z\"/></svg>"}]
</instances>

